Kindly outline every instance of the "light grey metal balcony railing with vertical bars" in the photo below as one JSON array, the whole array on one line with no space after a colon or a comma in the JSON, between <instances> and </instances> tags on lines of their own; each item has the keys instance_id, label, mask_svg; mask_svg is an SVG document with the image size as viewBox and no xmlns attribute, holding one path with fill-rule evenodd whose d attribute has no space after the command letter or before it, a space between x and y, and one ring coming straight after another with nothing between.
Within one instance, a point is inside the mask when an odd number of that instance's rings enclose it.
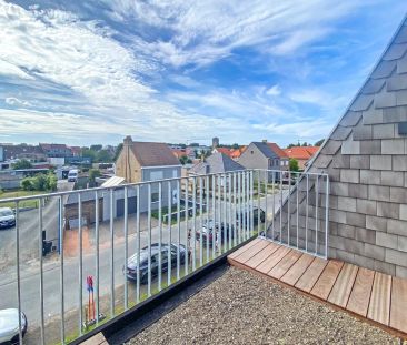
<instances>
[{"instance_id":1,"label":"light grey metal balcony railing with vertical bars","mask_svg":"<svg viewBox=\"0 0 407 345\"><path fill-rule=\"evenodd\" d=\"M67 344L257 234L326 256L328 191L327 175L247 170L0 200L16 213L0 310L27 316L20 343Z\"/></svg>"}]
</instances>

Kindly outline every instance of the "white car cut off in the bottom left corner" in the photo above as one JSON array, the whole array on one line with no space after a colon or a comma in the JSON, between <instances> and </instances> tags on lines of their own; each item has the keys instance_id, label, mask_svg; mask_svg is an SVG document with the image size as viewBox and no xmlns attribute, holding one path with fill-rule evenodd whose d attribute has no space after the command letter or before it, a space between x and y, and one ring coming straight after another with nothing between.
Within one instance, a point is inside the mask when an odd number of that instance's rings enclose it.
<instances>
[{"instance_id":1,"label":"white car cut off in the bottom left corner","mask_svg":"<svg viewBox=\"0 0 407 345\"><path fill-rule=\"evenodd\" d=\"M20 314L22 335L27 331L27 317ZM18 344L19 342L19 310L0 310L0 344Z\"/></svg>"}]
</instances>

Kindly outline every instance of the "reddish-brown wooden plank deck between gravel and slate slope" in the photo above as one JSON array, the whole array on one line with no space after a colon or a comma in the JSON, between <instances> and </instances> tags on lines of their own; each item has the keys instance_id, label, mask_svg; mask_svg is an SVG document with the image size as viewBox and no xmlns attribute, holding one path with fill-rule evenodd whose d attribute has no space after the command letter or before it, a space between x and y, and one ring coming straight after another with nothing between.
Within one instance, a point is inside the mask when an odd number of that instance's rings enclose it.
<instances>
[{"instance_id":1,"label":"reddish-brown wooden plank deck between gravel and slate slope","mask_svg":"<svg viewBox=\"0 0 407 345\"><path fill-rule=\"evenodd\" d=\"M256 239L228 262L407 338L407 280Z\"/></svg>"}]
</instances>

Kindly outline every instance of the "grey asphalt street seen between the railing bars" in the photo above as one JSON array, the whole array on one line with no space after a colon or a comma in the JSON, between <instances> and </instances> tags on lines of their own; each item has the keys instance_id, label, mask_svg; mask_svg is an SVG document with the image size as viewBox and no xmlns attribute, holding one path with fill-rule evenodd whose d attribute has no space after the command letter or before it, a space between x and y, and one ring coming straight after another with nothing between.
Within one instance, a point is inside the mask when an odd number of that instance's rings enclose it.
<instances>
[{"instance_id":1,"label":"grey asphalt street seen between the railing bars","mask_svg":"<svg viewBox=\"0 0 407 345\"><path fill-rule=\"evenodd\" d=\"M286 195L287 192L285 192ZM277 197L276 197L277 199ZM265 209L266 201L265 199L260 199L260 206ZM272 210L272 196L269 195L267 197L267 211L268 219L271 219ZM257 205L257 201L255 201L255 205ZM52 215L52 205L51 203L48 205L49 210L47 215L47 224L52 224L57 221L58 224L58 213ZM57 202L58 207L58 202ZM276 202L276 210L278 210L279 205ZM224 207L221 207L224 210ZM46 212L46 209L44 209ZM54 219L57 216L57 220ZM221 214L221 216L224 216ZM46 213L44 213L46 217ZM204 219L206 215L204 215ZM32 220L31 220L32 221ZM30 225L30 217L28 216L24 220L24 224L27 225L27 230L23 232L23 236L26 241L24 243L30 244L26 250L30 250L32 247L33 251L38 251L38 231L34 225ZM46 225L46 221L44 221ZM33 226L33 227L32 227ZM131 223L129 223L131 226ZM191 221L189 222L189 226L191 227ZM197 217L197 229L200 226L200 219ZM108 226L107 226L108 227ZM122 219L118 219L115 221L115 232L117 232L115 236L115 270L113 270L113 281L115 287L122 287L126 278L122 274L122 267L125 265L125 239L122 236ZM32 233L30 233L32 232ZM101 230L102 232L102 230ZM14 232L11 232L14 234ZM37 234L36 234L37 233ZM90 234L93 234L90 230ZM162 229L162 242L169 242L169 231L166 226ZM160 231L159 227L156 226L151 231L151 243L159 242ZM27 236L27 237L26 237ZM137 248L136 243L136 234L129 235L128 241L128 256L133 254ZM13 239L14 241L14 239ZM180 243L186 244L187 242L187 226L186 222L181 222L180 224ZM32 242L32 243L30 243ZM171 226L171 242L178 242L178 227L176 225ZM147 230L142 230L140 232L140 243L141 246L148 244L148 232ZM206 257L206 250L204 248L202 257ZM111 285L111 270L110 270L110 257L111 257L111 248L110 248L110 240L102 241L100 245L100 254L99 254L99 265L100 265L100 295L101 296L110 296L110 285ZM196 260L199 264L200 255L199 255L199 244L197 247ZM40 323L40 274L39 274L39 264L38 260L34 260L30 264L24 264L24 261L21 261L21 304L22 310L27 314L30 325L38 325ZM64 310L72 311L78 310L79 305L79 294L82 291L83 303L87 301L87 291L86 291L86 277L88 275L96 275L96 248L91 247L90 252L83 255L82 261L82 286L79 284L79 260L78 257L66 258L64 260ZM182 268L181 268L182 270ZM157 284L157 280L156 283ZM129 282L129 296L130 301L135 301L135 284ZM157 286L157 285L156 285ZM53 260L44 262L43 266L43 296L44 296L44 322L51 322L59 317L60 315L60 258L54 256ZM141 287L141 293L146 292L146 286ZM7 298L0 300L0 310L7 307L16 307L17 306L17 283L16 283L16 268L9 267L9 270L2 270L0 273L0 295L7 296ZM123 300L123 296L116 296L117 300ZM103 313L109 314L109 310L102 311Z\"/></svg>"}]
</instances>

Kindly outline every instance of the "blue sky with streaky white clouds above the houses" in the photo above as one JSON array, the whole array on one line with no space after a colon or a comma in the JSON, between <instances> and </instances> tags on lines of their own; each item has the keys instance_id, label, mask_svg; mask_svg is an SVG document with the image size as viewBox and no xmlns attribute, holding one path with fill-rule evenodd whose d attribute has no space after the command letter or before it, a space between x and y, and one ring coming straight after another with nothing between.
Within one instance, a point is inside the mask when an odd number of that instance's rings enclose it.
<instances>
[{"instance_id":1,"label":"blue sky with streaky white clouds above the houses","mask_svg":"<svg viewBox=\"0 0 407 345\"><path fill-rule=\"evenodd\" d=\"M0 142L325 138L399 0L0 0Z\"/></svg>"}]
</instances>

